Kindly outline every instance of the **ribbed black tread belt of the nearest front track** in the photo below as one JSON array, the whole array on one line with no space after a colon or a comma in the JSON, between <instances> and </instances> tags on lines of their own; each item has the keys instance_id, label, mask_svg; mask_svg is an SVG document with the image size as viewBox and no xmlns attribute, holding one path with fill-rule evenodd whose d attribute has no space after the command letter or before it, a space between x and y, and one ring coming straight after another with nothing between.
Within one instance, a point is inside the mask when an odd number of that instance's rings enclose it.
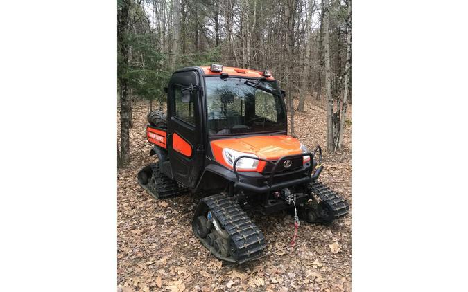
<instances>
[{"instance_id":1,"label":"ribbed black tread belt of the nearest front track","mask_svg":"<svg viewBox=\"0 0 468 292\"><path fill-rule=\"evenodd\" d=\"M238 203L224 194L205 197L202 201L207 204L221 226L232 238L237 248L237 263L248 262L261 255L262 250L266 247L265 237Z\"/></svg>"}]
</instances>

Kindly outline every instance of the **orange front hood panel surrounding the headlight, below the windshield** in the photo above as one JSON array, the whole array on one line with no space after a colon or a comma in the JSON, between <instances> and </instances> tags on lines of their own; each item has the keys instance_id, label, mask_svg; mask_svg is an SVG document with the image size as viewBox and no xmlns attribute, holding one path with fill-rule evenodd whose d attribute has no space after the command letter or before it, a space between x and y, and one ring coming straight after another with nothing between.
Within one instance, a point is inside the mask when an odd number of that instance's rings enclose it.
<instances>
[{"instance_id":1,"label":"orange front hood panel surrounding the headlight, below the windshield","mask_svg":"<svg viewBox=\"0 0 468 292\"><path fill-rule=\"evenodd\" d=\"M259 158L277 160L282 156L301 154L301 143L296 138L287 135L275 136L250 136L245 138L227 138L211 141L211 149L218 163L232 169L223 158L223 149L229 148L239 152L255 154ZM256 170L242 170L250 172L262 172L266 162L259 161Z\"/></svg>"}]
</instances>

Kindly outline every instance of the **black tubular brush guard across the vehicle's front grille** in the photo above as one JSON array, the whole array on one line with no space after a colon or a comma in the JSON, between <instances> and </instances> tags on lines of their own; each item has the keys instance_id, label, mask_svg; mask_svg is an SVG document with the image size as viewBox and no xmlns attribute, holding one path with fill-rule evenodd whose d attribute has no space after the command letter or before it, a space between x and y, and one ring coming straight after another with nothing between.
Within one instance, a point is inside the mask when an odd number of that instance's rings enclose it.
<instances>
[{"instance_id":1,"label":"black tubular brush guard across the vehicle's front grille","mask_svg":"<svg viewBox=\"0 0 468 292\"><path fill-rule=\"evenodd\" d=\"M279 190L281 188L286 188L286 187L291 186L291 185L299 185L299 184L302 184L302 183L309 183L310 181L314 181L315 179L318 178L318 176L320 175L320 172L322 172L322 170L323 170L323 165L319 165L317 167L317 169L315 170L315 172L312 174L313 168L315 167L315 163L313 163L313 162L314 162L315 154L317 152L318 152L318 155L319 155L318 163L322 163L322 148L320 148L320 146L315 147L313 152L306 152L306 153L302 153L302 154L283 156L283 157L279 158L276 163L274 163L272 161L269 161L267 159L256 158L256 157L252 157L252 156L248 156L248 155L239 156L234 161L234 165L232 165L232 167L234 168L234 174L236 174L236 183L235 183L234 186L238 187L238 188L245 189L245 190L250 190L252 192L264 193L264 192L270 192L272 190ZM281 165L280 163L284 163L284 161L286 161L286 160L291 160L291 159L294 159L294 158L299 158L299 157L304 157L304 156L310 156L311 157L310 166L309 166L309 169L307 170L307 176L302 177L300 179L293 179L291 181L283 181L281 183L273 183L273 181L275 179L275 173L278 170L278 165ZM267 185L257 187L256 185L252 185L251 183L244 183L244 182L241 181L241 174L239 174L239 172L236 169L236 164L239 161L239 159L241 159L241 158L251 158L251 159L254 159L254 160L258 160L258 161L265 161L266 163L270 163L270 164L273 165L273 168L272 168L272 170L270 172L270 176L268 178ZM302 171L304 171L304 170L302 170Z\"/></svg>"}]
</instances>

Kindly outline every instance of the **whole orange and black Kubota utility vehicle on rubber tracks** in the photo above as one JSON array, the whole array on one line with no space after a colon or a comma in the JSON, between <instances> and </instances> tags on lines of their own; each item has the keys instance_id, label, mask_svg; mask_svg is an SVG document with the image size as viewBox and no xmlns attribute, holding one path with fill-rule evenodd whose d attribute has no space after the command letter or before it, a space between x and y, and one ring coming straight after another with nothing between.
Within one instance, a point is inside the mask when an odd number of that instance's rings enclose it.
<instances>
[{"instance_id":1,"label":"whole orange and black Kubota utility vehicle on rubber tracks","mask_svg":"<svg viewBox=\"0 0 468 292\"><path fill-rule=\"evenodd\" d=\"M311 223L331 223L349 205L323 183L322 149L309 152L287 135L284 91L271 71L212 64L173 73L167 116L148 114L150 163L138 173L155 199L202 193L192 229L218 259L243 263L266 247L246 215L281 210Z\"/></svg>"}]
</instances>

